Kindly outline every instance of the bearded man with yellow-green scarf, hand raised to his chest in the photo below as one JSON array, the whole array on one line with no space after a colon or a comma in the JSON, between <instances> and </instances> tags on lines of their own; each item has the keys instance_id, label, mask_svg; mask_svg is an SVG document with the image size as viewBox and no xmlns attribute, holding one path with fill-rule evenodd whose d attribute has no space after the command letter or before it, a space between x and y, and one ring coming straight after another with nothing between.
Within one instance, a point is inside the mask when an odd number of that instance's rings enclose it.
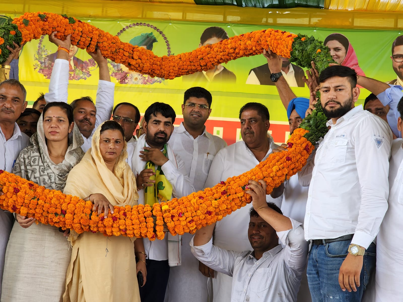
<instances>
[{"instance_id":1,"label":"bearded man with yellow-green scarf, hand raised to his chest","mask_svg":"<svg viewBox=\"0 0 403 302\"><path fill-rule=\"evenodd\" d=\"M142 125L145 135L139 137L131 158L139 190L139 204L152 206L195 191L186 176L185 164L174 155L167 143L175 117L175 111L165 103L153 103L145 110ZM163 302L169 268L181 265L181 236L166 233L164 240L144 239L144 248L147 255L147 282L140 288L141 301Z\"/></svg>"}]
</instances>

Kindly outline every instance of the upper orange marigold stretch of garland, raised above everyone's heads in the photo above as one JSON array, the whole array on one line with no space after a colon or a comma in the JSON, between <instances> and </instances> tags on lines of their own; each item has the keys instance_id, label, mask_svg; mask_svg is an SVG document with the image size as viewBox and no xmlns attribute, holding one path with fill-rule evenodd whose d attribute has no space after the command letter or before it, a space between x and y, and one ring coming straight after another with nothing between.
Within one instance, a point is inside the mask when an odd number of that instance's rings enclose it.
<instances>
[{"instance_id":1,"label":"upper orange marigold stretch of garland, raised above everyone's heads","mask_svg":"<svg viewBox=\"0 0 403 302\"><path fill-rule=\"evenodd\" d=\"M261 54L263 49L269 48L282 57L291 57L291 61L294 61L307 54L293 56L291 54L293 45L298 46L297 41L304 40L310 43L311 39L287 31L264 29L230 37L213 45L197 48L192 52L159 57L151 50L122 42L118 36L113 36L74 17L50 12L27 12L15 18L12 23L4 22L1 25L0 33L2 36L7 36L7 41L0 38L0 62L7 58L9 51L6 45L12 46L12 41L21 44L32 39L39 39L42 35L50 35L54 31L58 32L56 37L59 39L65 39L71 34L72 44L89 52L94 52L98 46L105 58L124 64L129 70L164 79L174 79L185 74L210 70L218 64ZM14 36L15 39L12 39ZM320 62L318 64L317 60L331 61L330 54L326 58L321 54L322 44L311 43L311 46L309 61L301 60L300 66L310 67L311 60L314 60L317 66L323 65ZM321 72L320 68L318 70Z\"/></svg>"}]
</instances>

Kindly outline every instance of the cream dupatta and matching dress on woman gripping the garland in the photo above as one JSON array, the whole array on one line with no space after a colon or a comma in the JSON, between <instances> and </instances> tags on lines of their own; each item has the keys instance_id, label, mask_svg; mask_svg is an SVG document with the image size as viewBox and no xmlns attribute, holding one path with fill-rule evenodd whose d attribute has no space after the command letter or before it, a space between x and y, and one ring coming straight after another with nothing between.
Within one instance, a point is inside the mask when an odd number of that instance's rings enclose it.
<instances>
[{"instance_id":1,"label":"cream dupatta and matching dress on woman gripping the garland","mask_svg":"<svg viewBox=\"0 0 403 302\"><path fill-rule=\"evenodd\" d=\"M122 130L114 121L104 122L97 128L92 137L91 149L67 178L65 194L91 200L91 194L98 193L103 194L113 206L137 205L139 196L136 180L125 161L127 143L123 134L108 136L110 142L121 137L121 144L124 146L116 159L113 172L107 167L102 148L100 149L100 140L105 141L102 133L116 133L117 128L110 130L113 123ZM117 149L116 151L119 152ZM64 302L140 301L133 246L135 239L124 236L106 237L90 232L78 236L72 231L69 240L73 245L73 252L66 274Z\"/></svg>"}]
</instances>

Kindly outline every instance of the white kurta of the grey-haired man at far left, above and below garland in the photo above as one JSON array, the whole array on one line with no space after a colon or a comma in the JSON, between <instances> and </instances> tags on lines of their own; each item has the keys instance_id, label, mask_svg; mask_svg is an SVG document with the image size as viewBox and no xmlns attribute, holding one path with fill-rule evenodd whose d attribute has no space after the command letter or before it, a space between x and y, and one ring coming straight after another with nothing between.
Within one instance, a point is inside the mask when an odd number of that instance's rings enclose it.
<instances>
[{"instance_id":1,"label":"white kurta of the grey-haired man at far left, above and below garland","mask_svg":"<svg viewBox=\"0 0 403 302\"><path fill-rule=\"evenodd\" d=\"M28 146L29 137L25 133L21 133L17 123L14 125L14 133L12 137L6 140L3 131L0 128L0 169L12 172L15 160L20 154L21 150ZM4 269L4 256L6 254L6 247L8 237L10 236L14 218L8 211L0 209L0 297L1 297L1 284Z\"/></svg>"}]
</instances>

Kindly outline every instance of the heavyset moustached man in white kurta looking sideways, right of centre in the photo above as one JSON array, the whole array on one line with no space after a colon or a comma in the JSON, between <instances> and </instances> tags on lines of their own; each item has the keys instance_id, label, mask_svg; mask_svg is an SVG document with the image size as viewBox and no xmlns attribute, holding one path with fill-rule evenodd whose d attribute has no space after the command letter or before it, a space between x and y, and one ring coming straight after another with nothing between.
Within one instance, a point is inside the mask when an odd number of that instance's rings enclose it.
<instances>
[{"instance_id":1,"label":"heavyset moustached man in white kurta looking sideways, right of centre","mask_svg":"<svg viewBox=\"0 0 403 302\"><path fill-rule=\"evenodd\" d=\"M270 115L267 107L260 103L247 103L239 111L242 141L218 151L211 164L205 187L211 188L220 181L237 176L264 161L273 149L279 147L267 137ZM273 201L270 195L267 201ZM282 197L274 200L278 207ZM242 252L249 249L244 225L249 221L247 207L243 207L216 223L213 244L224 250ZM232 278L216 273L213 278L214 302L231 301Z\"/></svg>"}]
</instances>

